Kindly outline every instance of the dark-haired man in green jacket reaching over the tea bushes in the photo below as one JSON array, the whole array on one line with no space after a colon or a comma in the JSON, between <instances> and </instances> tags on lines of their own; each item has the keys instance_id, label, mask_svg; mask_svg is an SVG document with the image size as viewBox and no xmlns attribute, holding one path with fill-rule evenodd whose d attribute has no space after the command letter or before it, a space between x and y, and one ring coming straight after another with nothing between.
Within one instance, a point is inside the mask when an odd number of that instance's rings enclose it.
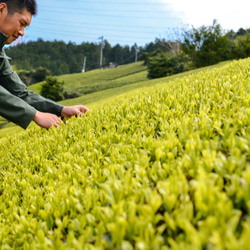
<instances>
[{"instance_id":1,"label":"dark-haired man in green jacket reaching over the tea bushes","mask_svg":"<svg viewBox=\"0 0 250 250\"><path fill-rule=\"evenodd\" d=\"M83 105L62 106L28 91L12 70L3 46L23 36L36 13L36 0L0 0L0 116L24 129L32 120L43 128L58 127L60 117L81 116L88 111Z\"/></svg>"}]
</instances>

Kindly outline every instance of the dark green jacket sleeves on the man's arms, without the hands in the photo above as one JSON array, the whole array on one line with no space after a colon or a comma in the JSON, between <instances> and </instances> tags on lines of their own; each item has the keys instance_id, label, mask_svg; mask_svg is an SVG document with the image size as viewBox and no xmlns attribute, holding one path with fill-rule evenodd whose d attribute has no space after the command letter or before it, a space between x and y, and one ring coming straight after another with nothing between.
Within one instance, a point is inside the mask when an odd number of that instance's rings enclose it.
<instances>
[{"instance_id":1,"label":"dark green jacket sleeves on the man's arms, without the hands","mask_svg":"<svg viewBox=\"0 0 250 250\"><path fill-rule=\"evenodd\" d=\"M61 115L63 106L28 91L26 85L12 70L8 57L0 54L0 115L26 128L36 110Z\"/></svg>"}]
</instances>

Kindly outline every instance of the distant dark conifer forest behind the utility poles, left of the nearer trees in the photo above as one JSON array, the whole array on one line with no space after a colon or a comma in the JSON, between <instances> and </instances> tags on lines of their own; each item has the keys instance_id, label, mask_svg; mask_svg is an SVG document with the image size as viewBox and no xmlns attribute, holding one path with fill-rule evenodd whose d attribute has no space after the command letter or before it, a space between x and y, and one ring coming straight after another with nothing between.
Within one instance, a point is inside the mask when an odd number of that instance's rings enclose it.
<instances>
[{"instance_id":1,"label":"distant dark conifer forest behind the utility poles, left of the nearer trees","mask_svg":"<svg viewBox=\"0 0 250 250\"><path fill-rule=\"evenodd\" d=\"M142 50L142 48L140 48ZM83 68L84 57L86 71L100 67L100 45L96 43L64 43L62 41L43 41L19 44L6 49L6 54L12 58L12 65L17 70L32 71L38 67L50 70L52 75L80 73ZM102 65L110 62L121 64L135 61L135 51L129 46L111 45L105 41Z\"/></svg>"}]
</instances>

